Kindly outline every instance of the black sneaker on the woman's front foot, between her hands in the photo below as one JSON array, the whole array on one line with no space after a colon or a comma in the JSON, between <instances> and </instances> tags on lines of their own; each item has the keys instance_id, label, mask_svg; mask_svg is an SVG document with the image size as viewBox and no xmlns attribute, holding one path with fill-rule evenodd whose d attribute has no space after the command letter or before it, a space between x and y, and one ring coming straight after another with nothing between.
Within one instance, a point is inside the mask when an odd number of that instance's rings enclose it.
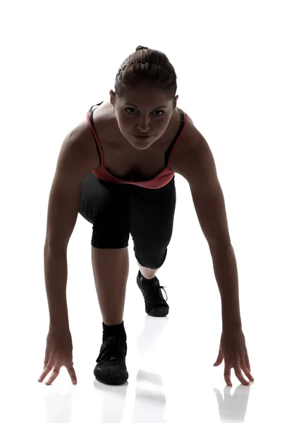
<instances>
[{"instance_id":1,"label":"black sneaker on the woman's front foot, between her hands","mask_svg":"<svg viewBox=\"0 0 282 423\"><path fill-rule=\"evenodd\" d=\"M94 376L106 385L122 385L128 380L125 357L127 353L126 341L121 336L109 336L102 343Z\"/></svg>"}]
</instances>

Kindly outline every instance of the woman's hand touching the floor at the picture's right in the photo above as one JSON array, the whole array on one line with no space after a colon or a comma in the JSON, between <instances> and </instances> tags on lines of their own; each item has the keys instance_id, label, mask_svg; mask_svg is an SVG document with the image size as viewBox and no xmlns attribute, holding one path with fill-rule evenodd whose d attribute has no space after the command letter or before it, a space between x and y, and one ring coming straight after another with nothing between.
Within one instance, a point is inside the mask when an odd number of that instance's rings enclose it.
<instances>
[{"instance_id":1,"label":"woman's hand touching the floor at the picture's right","mask_svg":"<svg viewBox=\"0 0 282 423\"><path fill-rule=\"evenodd\" d=\"M255 379L250 374L251 367L249 357L247 355L247 348L245 344L245 336L242 329L224 330L221 334L221 342L219 347L219 355L214 366L219 366L224 358L224 379L228 386L231 384L231 368L234 368L235 375L243 385L250 385L246 381L243 372L253 382ZM242 369L242 370L241 370Z\"/></svg>"}]
</instances>

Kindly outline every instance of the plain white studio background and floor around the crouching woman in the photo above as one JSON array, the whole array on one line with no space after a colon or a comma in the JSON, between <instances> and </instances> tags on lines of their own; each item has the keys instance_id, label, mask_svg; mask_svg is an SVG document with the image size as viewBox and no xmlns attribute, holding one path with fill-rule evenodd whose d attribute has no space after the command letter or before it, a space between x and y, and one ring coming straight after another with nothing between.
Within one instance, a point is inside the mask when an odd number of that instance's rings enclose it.
<instances>
[{"instance_id":1,"label":"plain white studio background and floor around the crouching woman","mask_svg":"<svg viewBox=\"0 0 282 423\"><path fill-rule=\"evenodd\" d=\"M280 1L1 4L1 420L280 421L280 10ZM130 238L128 386L93 385L102 317L92 226L80 215L68 245L67 287L78 385L64 367L52 386L37 382L49 326L47 207L61 143L90 106L109 98L119 66L140 44L164 51L173 63L178 106L209 143L226 201L255 383L241 386L232 370L231 394L239 390L220 406L224 364L213 364L221 301L190 188L179 175L173 238L157 273L168 295L168 319L145 314ZM161 388L155 379L148 385L136 379L138 368L151 378L158 374Z\"/></svg>"}]
</instances>

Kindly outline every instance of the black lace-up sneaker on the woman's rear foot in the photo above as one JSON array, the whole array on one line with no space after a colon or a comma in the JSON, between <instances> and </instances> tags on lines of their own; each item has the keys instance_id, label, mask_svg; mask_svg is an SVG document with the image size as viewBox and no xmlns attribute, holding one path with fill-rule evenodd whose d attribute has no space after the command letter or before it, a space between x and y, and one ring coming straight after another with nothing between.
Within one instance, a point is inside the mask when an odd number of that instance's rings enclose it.
<instances>
[{"instance_id":1,"label":"black lace-up sneaker on the woman's rear foot","mask_svg":"<svg viewBox=\"0 0 282 423\"><path fill-rule=\"evenodd\" d=\"M139 286L143 297L145 299L145 310L148 316L153 317L166 317L169 312L169 306L166 302L168 297L166 295L166 300L164 299L161 289L164 289L164 286L159 285L159 279L154 276L153 280L149 283L140 281L142 277L141 272L137 274L137 285ZM164 289L166 293L166 290Z\"/></svg>"}]
</instances>

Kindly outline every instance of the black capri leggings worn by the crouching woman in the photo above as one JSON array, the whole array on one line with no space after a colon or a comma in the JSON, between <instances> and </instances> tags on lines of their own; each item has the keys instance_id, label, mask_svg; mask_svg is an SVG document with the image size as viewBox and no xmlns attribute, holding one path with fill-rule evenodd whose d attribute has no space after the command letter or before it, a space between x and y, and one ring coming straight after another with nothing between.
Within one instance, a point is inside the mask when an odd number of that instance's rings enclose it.
<instances>
[{"instance_id":1,"label":"black capri leggings worn by the crouching woman","mask_svg":"<svg viewBox=\"0 0 282 423\"><path fill-rule=\"evenodd\" d=\"M166 259L176 209L175 176L162 188L110 183L90 172L82 182L79 213L92 223L91 245L128 247L141 266L159 269Z\"/></svg>"}]
</instances>

